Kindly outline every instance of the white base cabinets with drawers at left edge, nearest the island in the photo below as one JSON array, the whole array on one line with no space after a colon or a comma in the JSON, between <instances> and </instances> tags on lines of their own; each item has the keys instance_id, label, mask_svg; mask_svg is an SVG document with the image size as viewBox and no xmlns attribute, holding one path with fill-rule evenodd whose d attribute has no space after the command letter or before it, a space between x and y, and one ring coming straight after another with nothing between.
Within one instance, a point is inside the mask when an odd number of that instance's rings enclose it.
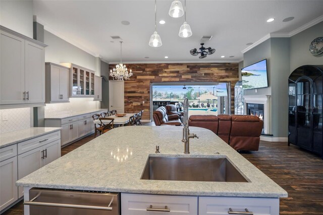
<instances>
[{"instance_id":1,"label":"white base cabinets with drawers at left edge, nearest the island","mask_svg":"<svg viewBox=\"0 0 323 215\"><path fill-rule=\"evenodd\" d=\"M17 180L60 156L60 131L0 148L0 213L24 195Z\"/></svg>"}]
</instances>

